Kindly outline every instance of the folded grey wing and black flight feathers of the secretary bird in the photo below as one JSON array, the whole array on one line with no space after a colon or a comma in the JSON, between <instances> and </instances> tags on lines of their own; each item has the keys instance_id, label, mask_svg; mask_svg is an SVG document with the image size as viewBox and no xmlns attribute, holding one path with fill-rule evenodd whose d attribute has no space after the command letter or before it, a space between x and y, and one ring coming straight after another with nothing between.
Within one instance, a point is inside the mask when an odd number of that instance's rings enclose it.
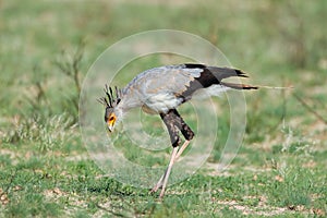
<instances>
[{"instance_id":1,"label":"folded grey wing and black flight feathers of the secretary bird","mask_svg":"<svg viewBox=\"0 0 327 218\"><path fill-rule=\"evenodd\" d=\"M203 64L166 65L138 74L125 88L126 98L137 101L154 112L167 112L192 98L202 88L219 85L226 88L255 88L254 86L221 82L226 77L246 75L229 68L206 66ZM211 88L211 90L219 88ZM211 95L211 94L210 94Z\"/></svg>"}]
</instances>

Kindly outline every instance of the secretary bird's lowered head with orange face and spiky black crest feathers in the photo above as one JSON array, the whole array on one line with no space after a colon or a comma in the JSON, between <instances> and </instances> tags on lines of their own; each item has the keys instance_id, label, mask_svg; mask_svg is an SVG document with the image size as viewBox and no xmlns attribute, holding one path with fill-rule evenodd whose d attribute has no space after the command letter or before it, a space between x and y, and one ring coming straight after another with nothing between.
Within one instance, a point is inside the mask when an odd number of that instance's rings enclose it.
<instances>
[{"instance_id":1,"label":"secretary bird's lowered head with orange face and spiky black crest feathers","mask_svg":"<svg viewBox=\"0 0 327 218\"><path fill-rule=\"evenodd\" d=\"M121 101L121 89L118 89L117 87L114 89L116 97L113 96L112 88L106 85L104 89L106 96L98 99L98 101L106 107L105 122L110 132L112 132L114 124L120 117L120 112L117 110L117 106Z\"/></svg>"}]
</instances>

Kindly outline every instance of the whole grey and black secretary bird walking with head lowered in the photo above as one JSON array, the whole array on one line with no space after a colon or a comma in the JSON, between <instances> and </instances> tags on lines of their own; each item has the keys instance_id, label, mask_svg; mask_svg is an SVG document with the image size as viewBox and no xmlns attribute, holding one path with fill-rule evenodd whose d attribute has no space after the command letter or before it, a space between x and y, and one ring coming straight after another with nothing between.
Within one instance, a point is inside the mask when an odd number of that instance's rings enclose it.
<instances>
[{"instance_id":1,"label":"whole grey and black secretary bird walking with head lowered","mask_svg":"<svg viewBox=\"0 0 327 218\"><path fill-rule=\"evenodd\" d=\"M106 86L105 93L107 97L100 98L100 102L106 106L105 121L109 131L113 130L116 121L120 121L128 110L136 107L142 107L147 113L160 114L168 129L173 146L172 156L168 169L153 189L153 192L156 192L162 186L160 197L165 194L173 162L194 136L193 131L183 121L177 108L192 99L201 90L207 90L208 95L218 95L229 88L257 89L256 86L222 81L232 76L247 77L242 71L231 68L186 63L165 65L144 71L135 76L124 88L117 88L116 97L112 89ZM185 143L180 148L179 132L185 137Z\"/></svg>"}]
</instances>

